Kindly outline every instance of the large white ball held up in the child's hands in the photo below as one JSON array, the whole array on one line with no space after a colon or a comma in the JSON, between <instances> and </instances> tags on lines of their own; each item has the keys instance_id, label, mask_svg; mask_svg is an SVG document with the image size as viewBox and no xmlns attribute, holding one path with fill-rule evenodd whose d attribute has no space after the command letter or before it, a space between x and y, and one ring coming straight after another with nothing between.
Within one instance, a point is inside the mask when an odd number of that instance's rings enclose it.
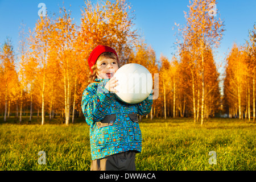
<instances>
[{"instance_id":1,"label":"large white ball held up in the child's hands","mask_svg":"<svg viewBox=\"0 0 256 182\"><path fill-rule=\"evenodd\" d=\"M153 79L147 68L140 64L123 65L115 72L118 80L115 89L117 97L127 104L137 104L144 101L152 91Z\"/></svg>"}]
</instances>

